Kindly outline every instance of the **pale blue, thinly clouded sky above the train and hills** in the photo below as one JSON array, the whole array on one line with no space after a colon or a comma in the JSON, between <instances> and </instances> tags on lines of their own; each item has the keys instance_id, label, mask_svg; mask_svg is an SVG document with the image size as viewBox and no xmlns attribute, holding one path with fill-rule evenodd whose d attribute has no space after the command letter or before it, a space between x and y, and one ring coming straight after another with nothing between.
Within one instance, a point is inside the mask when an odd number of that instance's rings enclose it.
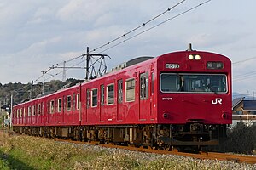
<instances>
[{"instance_id":1,"label":"pale blue, thinly clouded sky above the train and hills","mask_svg":"<svg viewBox=\"0 0 256 170\"><path fill-rule=\"evenodd\" d=\"M256 94L256 1L212 0L186 14L182 13L206 1L186 0L172 8L179 2L1 0L0 82L61 80L63 69L48 71L50 66L86 54L86 47L93 50L121 37L91 53L108 54L108 70L139 56L185 50L192 43L195 50L228 56L233 63L233 91ZM142 26L167 8L172 10ZM181 15L145 31L177 14ZM122 37L137 26L142 27ZM83 60L73 59L66 66L84 67ZM48 71L44 77L42 71ZM84 79L85 73L69 69L66 77Z\"/></svg>"}]
</instances>

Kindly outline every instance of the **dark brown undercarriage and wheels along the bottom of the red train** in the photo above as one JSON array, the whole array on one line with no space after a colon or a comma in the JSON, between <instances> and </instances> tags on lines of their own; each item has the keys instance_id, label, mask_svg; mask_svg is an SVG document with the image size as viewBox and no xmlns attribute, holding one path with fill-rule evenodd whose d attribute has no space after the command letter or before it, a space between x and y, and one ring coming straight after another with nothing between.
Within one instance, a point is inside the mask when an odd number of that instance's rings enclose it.
<instances>
[{"instance_id":1,"label":"dark brown undercarriage and wheels along the bottom of the red train","mask_svg":"<svg viewBox=\"0 0 256 170\"><path fill-rule=\"evenodd\" d=\"M102 144L134 145L158 150L201 150L226 137L226 125L152 124L125 126L14 127L16 133Z\"/></svg>"}]
</instances>

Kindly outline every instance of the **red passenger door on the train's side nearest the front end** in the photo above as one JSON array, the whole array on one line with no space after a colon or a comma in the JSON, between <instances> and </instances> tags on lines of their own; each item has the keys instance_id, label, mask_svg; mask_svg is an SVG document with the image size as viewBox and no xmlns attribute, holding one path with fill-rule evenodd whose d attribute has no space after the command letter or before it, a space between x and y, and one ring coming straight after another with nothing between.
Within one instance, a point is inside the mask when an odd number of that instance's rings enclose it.
<instances>
[{"instance_id":1,"label":"red passenger door on the train's side nearest the front end","mask_svg":"<svg viewBox=\"0 0 256 170\"><path fill-rule=\"evenodd\" d=\"M140 74L140 111L139 119L145 121L150 112L150 102L148 101L148 72Z\"/></svg>"}]
</instances>

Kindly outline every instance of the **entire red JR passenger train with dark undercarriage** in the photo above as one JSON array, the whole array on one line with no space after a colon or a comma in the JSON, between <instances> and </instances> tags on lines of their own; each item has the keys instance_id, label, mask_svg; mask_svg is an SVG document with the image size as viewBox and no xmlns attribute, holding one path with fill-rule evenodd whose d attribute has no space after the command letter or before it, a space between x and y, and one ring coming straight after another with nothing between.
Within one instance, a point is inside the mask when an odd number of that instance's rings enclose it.
<instances>
[{"instance_id":1,"label":"entire red JR passenger train with dark undercarriage","mask_svg":"<svg viewBox=\"0 0 256 170\"><path fill-rule=\"evenodd\" d=\"M17 133L171 150L219 143L231 124L231 62L181 51L15 105Z\"/></svg>"}]
</instances>

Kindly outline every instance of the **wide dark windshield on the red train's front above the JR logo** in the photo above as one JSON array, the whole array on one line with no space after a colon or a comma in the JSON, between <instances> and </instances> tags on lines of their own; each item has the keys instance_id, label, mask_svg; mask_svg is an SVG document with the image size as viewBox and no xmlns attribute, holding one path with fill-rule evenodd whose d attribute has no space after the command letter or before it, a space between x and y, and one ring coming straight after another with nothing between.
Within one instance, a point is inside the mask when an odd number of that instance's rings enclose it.
<instances>
[{"instance_id":1,"label":"wide dark windshield on the red train's front above the JR logo","mask_svg":"<svg viewBox=\"0 0 256 170\"><path fill-rule=\"evenodd\" d=\"M227 93L227 77L224 74L160 74L160 90L163 93Z\"/></svg>"}]
</instances>

